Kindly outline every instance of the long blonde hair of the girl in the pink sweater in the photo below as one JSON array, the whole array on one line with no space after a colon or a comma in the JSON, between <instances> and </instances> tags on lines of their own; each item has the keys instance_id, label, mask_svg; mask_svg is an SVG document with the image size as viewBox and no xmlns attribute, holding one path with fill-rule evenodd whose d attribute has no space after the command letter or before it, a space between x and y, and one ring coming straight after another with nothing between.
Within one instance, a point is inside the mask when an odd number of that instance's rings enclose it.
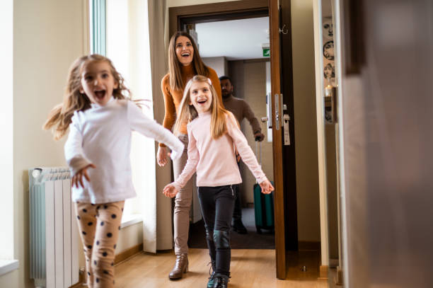
<instances>
[{"instance_id":1,"label":"long blonde hair of the girl in the pink sweater","mask_svg":"<svg viewBox=\"0 0 433 288\"><path fill-rule=\"evenodd\" d=\"M179 106L178 118L175 122L175 134L179 133L180 127L182 127L183 123L191 122L198 116L195 107L193 105L190 105L190 103L192 102L190 88L192 86L192 83L194 82L202 82L209 85L209 90L212 93L212 103L210 105L210 111L212 113L210 132L213 139L218 139L227 132L226 117L229 114L229 111L224 109L219 102L217 91L215 91L214 86L212 86L212 82L210 81L210 79L202 75L195 75L194 77L192 77L192 79L190 79L190 81L187 82L185 86L185 91L183 92L183 99Z\"/></svg>"}]
</instances>

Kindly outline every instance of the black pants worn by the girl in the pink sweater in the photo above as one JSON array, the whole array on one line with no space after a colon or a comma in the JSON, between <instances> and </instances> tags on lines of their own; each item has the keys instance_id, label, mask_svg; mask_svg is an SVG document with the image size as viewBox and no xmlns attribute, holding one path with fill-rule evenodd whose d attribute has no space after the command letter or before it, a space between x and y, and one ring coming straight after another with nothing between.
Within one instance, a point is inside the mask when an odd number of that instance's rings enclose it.
<instances>
[{"instance_id":1,"label":"black pants worn by the girl in the pink sweater","mask_svg":"<svg viewBox=\"0 0 433 288\"><path fill-rule=\"evenodd\" d=\"M235 185L197 187L206 228L209 255L215 261L215 272L230 275L230 228L236 199Z\"/></svg>"}]
</instances>

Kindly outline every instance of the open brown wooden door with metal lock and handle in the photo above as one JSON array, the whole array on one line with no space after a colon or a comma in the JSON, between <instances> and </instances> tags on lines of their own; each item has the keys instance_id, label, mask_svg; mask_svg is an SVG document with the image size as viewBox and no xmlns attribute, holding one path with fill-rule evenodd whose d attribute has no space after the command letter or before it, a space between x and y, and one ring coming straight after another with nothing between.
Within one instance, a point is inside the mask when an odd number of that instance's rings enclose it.
<instances>
[{"instance_id":1,"label":"open brown wooden door with metal lock and handle","mask_svg":"<svg viewBox=\"0 0 433 288\"><path fill-rule=\"evenodd\" d=\"M286 253L298 250L294 141L291 1L269 0L272 137L275 180L275 253L277 278L286 277ZM289 142L284 141L287 122ZM286 136L287 137L287 136Z\"/></svg>"}]
</instances>

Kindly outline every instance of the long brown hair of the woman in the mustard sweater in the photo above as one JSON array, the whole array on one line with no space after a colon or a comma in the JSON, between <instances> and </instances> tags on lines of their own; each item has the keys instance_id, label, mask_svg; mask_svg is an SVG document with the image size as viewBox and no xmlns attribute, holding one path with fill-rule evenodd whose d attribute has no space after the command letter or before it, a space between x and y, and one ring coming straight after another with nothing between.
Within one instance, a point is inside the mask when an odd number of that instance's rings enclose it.
<instances>
[{"instance_id":1,"label":"long brown hair of the woman in the mustard sweater","mask_svg":"<svg viewBox=\"0 0 433 288\"><path fill-rule=\"evenodd\" d=\"M170 75L170 88L173 91L182 90L185 85L182 80L182 72L180 71L181 64L176 55L176 40L178 40L180 36L188 38L191 41L192 48L194 49L194 54L192 55L192 68L194 69L194 74L209 76L209 69L204 65L194 39L190 34L184 31L178 31L171 36L170 44L168 45L168 74Z\"/></svg>"}]
</instances>

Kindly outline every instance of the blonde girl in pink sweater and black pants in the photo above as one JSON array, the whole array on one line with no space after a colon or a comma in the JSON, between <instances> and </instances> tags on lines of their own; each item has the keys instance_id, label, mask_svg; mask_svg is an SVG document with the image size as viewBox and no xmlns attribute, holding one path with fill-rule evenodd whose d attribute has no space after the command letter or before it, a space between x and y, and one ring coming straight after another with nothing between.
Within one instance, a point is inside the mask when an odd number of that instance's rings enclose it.
<instances>
[{"instance_id":1,"label":"blonde girl in pink sweater and black pants","mask_svg":"<svg viewBox=\"0 0 433 288\"><path fill-rule=\"evenodd\" d=\"M175 182L163 189L175 197L180 188L197 172L197 190L206 228L206 239L214 272L207 287L227 287L230 276L230 224L235 195L233 185L241 183L235 149L258 180L262 193L274 190L232 113L221 107L212 82L205 76L194 76L185 86L175 122L178 131L188 121L188 159Z\"/></svg>"}]
</instances>

